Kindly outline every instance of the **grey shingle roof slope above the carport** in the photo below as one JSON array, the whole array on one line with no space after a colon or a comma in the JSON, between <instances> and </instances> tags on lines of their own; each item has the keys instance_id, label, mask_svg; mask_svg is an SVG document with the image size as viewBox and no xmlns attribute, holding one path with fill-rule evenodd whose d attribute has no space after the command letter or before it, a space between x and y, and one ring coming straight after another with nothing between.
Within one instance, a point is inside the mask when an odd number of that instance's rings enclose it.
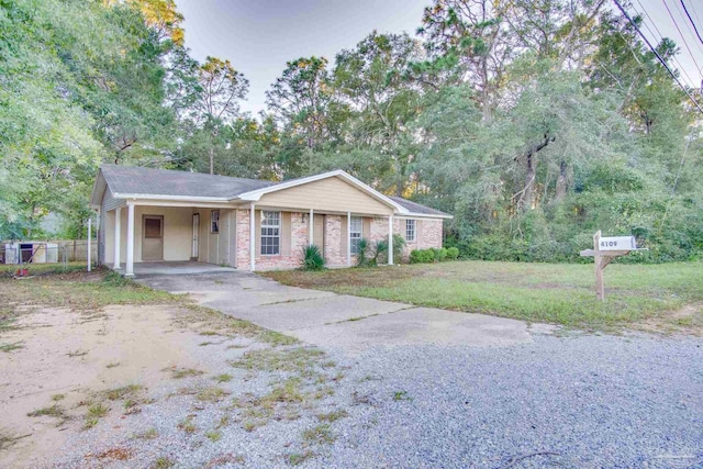
<instances>
[{"instance_id":1,"label":"grey shingle roof slope above the carport","mask_svg":"<svg viewBox=\"0 0 703 469\"><path fill-rule=\"evenodd\" d=\"M113 193L228 198L276 182L134 166L102 165Z\"/></svg>"}]
</instances>

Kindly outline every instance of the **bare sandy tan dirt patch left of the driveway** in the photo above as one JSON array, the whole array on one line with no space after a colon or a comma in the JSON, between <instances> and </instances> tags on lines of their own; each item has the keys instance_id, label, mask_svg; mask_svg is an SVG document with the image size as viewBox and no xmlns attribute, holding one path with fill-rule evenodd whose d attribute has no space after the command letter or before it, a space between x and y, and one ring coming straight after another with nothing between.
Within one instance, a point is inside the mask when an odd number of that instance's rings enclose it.
<instances>
[{"instance_id":1,"label":"bare sandy tan dirt patch left of the driveway","mask_svg":"<svg viewBox=\"0 0 703 469\"><path fill-rule=\"evenodd\" d=\"M0 355L0 406L8 437L29 436L7 443L0 467L33 466L35 456L58 451L70 434L66 429L83 425L83 404L93 393L156 387L164 367L194 366L182 333L167 332L177 312L113 305L92 315L52 308L23 314L0 336L2 343L22 344Z\"/></svg>"}]
</instances>

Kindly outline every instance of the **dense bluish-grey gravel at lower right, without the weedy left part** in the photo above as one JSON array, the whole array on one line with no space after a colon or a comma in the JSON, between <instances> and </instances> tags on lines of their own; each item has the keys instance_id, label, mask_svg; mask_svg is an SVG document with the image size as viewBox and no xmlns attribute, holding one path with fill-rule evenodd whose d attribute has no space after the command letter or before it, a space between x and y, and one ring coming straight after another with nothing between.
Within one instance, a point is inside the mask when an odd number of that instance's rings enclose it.
<instances>
[{"instance_id":1,"label":"dense bluish-grey gravel at lower right, without the weedy left part","mask_svg":"<svg viewBox=\"0 0 703 469\"><path fill-rule=\"evenodd\" d=\"M347 376L367 403L309 467L703 467L701 339L371 349Z\"/></svg>"}]
</instances>

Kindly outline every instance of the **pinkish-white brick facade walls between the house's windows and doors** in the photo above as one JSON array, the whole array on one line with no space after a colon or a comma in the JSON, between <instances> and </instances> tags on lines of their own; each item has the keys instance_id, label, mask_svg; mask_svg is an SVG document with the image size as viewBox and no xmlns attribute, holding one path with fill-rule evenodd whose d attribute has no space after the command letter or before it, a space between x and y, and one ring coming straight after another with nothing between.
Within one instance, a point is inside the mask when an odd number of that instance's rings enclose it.
<instances>
[{"instance_id":1,"label":"pinkish-white brick facade walls between the house's windows and doors","mask_svg":"<svg viewBox=\"0 0 703 469\"><path fill-rule=\"evenodd\" d=\"M303 222L303 213L291 213L291 239L290 255L287 256L261 256L256 254L257 270L294 269L300 267L302 261L303 247L308 245L306 222ZM236 216L236 239L237 239L237 267L242 270L249 269L249 211L238 210ZM408 259L412 249L425 249L428 247L442 247L442 220L417 220L415 222L415 242L406 243L403 250L404 260ZM388 239L388 219L370 219L369 239L371 242ZM255 230L259 235L259 228ZM395 217L393 220L393 233L405 237L405 219ZM347 265L347 253L343 253L342 215L325 216L325 260L330 267L341 267ZM281 242L282 246L282 242ZM399 259L395 259L397 261ZM356 259L352 259L352 265Z\"/></svg>"}]
</instances>

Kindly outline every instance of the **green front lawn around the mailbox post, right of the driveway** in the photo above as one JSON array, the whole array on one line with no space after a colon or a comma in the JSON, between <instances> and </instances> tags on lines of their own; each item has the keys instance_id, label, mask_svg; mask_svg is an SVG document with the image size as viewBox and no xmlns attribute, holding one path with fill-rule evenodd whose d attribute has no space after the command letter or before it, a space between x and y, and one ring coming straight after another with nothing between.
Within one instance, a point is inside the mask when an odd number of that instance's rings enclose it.
<instances>
[{"instance_id":1,"label":"green front lawn around the mailbox post, right of the driveway","mask_svg":"<svg viewBox=\"0 0 703 469\"><path fill-rule=\"evenodd\" d=\"M594 293L592 265L456 261L263 273L284 284L531 322L604 330L661 322L703 326L703 265L611 265L607 300Z\"/></svg>"}]
</instances>

